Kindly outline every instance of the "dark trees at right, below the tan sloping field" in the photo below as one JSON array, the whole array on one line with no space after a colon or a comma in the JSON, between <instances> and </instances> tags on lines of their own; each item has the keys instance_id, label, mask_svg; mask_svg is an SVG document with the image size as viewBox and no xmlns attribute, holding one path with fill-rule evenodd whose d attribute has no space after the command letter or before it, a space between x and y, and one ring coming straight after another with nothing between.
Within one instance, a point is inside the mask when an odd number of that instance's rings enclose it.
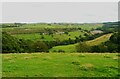
<instances>
[{"instance_id":1,"label":"dark trees at right, below the tan sloping field","mask_svg":"<svg viewBox=\"0 0 120 79\"><path fill-rule=\"evenodd\" d=\"M85 42L80 42L77 46L77 52L120 52L120 33L113 34L110 39L100 45L89 46Z\"/></svg>"}]
</instances>

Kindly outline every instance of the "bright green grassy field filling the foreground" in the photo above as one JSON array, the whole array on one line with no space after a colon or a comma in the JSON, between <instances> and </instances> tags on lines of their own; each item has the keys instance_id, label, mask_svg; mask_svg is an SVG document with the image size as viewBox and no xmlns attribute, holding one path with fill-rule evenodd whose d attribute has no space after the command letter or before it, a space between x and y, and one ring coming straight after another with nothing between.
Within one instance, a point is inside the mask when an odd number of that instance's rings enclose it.
<instances>
[{"instance_id":1,"label":"bright green grassy field filling the foreground","mask_svg":"<svg viewBox=\"0 0 120 79\"><path fill-rule=\"evenodd\" d=\"M3 77L116 77L118 53L3 54Z\"/></svg>"}]
</instances>

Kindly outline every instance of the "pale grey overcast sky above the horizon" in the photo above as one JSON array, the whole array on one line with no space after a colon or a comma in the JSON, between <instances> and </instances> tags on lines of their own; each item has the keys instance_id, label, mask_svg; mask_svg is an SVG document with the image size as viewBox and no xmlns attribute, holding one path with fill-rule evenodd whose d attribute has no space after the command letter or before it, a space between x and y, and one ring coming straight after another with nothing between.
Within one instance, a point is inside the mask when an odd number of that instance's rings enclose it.
<instances>
[{"instance_id":1,"label":"pale grey overcast sky above the horizon","mask_svg":"<svg viewBox=\"0 0 120 79\"><path fill-rule=\"evenodd\" d=\"M91 23L118 20L117 2L4 2L3 22Z\"/></svg>"}]
</instances>

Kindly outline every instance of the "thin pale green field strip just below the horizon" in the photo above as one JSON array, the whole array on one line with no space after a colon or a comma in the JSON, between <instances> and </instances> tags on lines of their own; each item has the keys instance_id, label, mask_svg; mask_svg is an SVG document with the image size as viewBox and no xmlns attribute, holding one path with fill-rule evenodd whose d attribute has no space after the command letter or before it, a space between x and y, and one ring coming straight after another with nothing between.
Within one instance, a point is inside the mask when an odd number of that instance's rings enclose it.
<instances>
[{"instance_id":1,"label":"thin pale green field strip just below the horizon","mask_svg":"<svg viewBox=\"0 0 120 79\"><path fill-rule=\"evenodd\" d=\"M82 29L85 29L85 30L90 30L90 29L95 29L95 28L98 28L98 27L102 27L103 24L47 24L47 23L29 23L29 24L25 24L25 25L22 25L20 27L7 27L7 28L3 28L4 30L5 29L20 29L20 28L23 28L23 29L42 29L42 28L79 28L81 27Z\"/></svg>"}]
</instances>

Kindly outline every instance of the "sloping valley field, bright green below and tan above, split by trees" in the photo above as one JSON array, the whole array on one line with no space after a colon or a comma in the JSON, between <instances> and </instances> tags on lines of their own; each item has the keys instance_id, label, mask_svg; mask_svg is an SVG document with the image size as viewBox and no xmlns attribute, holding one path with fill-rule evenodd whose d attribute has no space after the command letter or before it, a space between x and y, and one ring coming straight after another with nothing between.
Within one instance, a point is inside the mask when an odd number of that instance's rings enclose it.
<instances>
[{"instance_id":1,"label":"sloping valley field, bright green below and tan above, split by trees","mask_svg":"<svg viewBox=\"0 0 120 79\"><path fill-rule=\"evenodd\" d=\"M105 34L103 36L100 36L94 40L90 40L90 41L87 41L86 43L90 46L93 46L93 45L99 45L101 44L102 42L105 42L107 40L109 40L110 36L112 34ZM76 52L76 44L71 44L71 45L64 45L64 46L55 46L53 47L52 49L50 49L50 52L54 52L54 51L59 51L59 50L64 50L65 52Z\"/></svg>"}]
</instances>

